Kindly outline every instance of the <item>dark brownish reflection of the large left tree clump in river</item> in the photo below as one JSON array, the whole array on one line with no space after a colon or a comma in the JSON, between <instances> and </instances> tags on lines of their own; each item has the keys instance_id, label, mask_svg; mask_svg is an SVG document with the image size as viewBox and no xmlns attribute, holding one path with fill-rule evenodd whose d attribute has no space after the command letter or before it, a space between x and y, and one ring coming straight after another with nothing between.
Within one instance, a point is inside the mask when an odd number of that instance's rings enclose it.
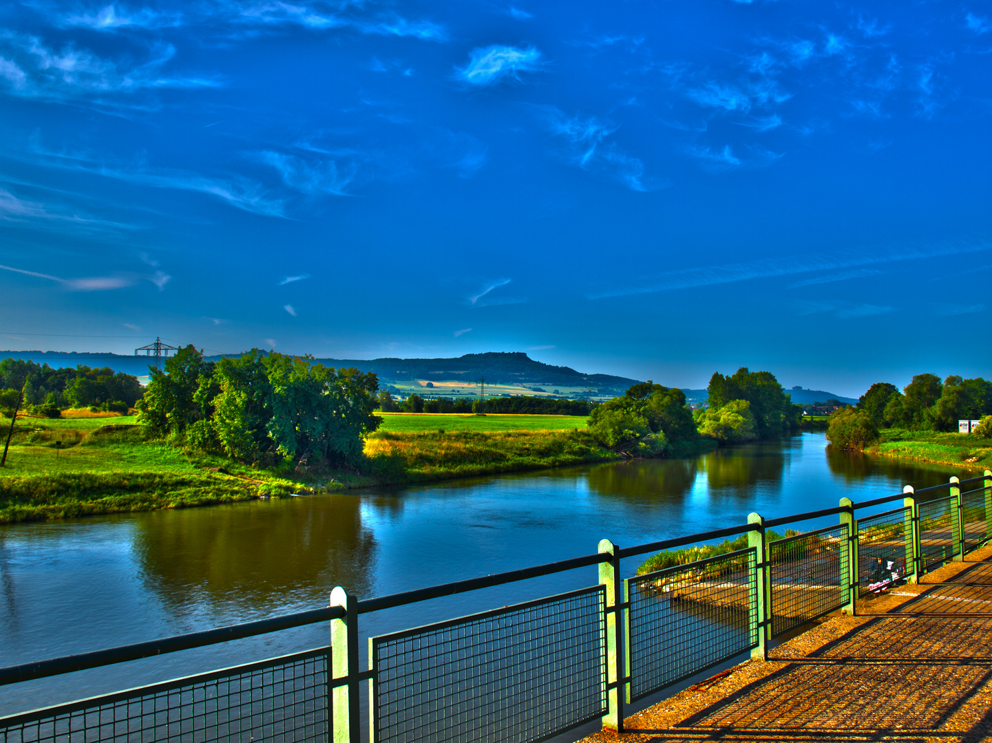
<instances>
[{"instance_id":1,"label":"dark brownish reflection of the large left tree clump in river","mask_svg":"<svg viewBox=\"0 0 992 743\"><path fill-rule=\"evenodd\" d=\"M205 598L265 610L335 585L368 595L376 544L360 508L341 495L146 514L135 549L145 584L173 606Z\"/></svg>"}]
</instances>

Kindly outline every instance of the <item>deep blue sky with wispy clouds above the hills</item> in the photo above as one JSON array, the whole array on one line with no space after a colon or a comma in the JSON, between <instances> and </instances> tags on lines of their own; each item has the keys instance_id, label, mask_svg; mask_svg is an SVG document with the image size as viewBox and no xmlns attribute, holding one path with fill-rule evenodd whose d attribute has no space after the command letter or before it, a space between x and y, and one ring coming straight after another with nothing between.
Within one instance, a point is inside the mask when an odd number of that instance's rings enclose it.
<instances>
[{"instance_id":1,"label":"deep blue sky with wispy clouds above the hills","mask_svg":"<svg viewBox=\"0 0 992 743\"><path fill-rule=\"evenodd\" d=\"M990 80L968 0L4 3L0 347L987 377Z\"/></svg>"}]
</instances>

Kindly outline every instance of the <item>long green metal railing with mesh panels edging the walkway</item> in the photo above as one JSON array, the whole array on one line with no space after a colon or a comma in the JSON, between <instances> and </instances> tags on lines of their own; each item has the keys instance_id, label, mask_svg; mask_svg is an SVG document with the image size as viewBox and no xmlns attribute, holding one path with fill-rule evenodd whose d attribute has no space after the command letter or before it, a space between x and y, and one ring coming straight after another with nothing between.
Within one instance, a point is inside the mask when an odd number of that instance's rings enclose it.
<instances>
[{"instance_id":1,"label":"long green metal railing with mesh panels edging the walkway","mask_svg":"<svg viewBox=\"0 0 992 743\"><path fill-rule=\"evenodd\" d=\"M895 506L875 513L870 509ZM835 516L834 526L773 527ZM620 560L748 535L748 546L622 578ZM992 471L983 477L231 627L0 669L0 687L329 622L330 642L208 674L0 718L3 743L279 740L357 742L369 688L374 741L538 741L742 654L928 570L992 538ZM359 617L442 596L597 566L597 580L490 611L368 639Z\"/></svg>"}]
</instances>

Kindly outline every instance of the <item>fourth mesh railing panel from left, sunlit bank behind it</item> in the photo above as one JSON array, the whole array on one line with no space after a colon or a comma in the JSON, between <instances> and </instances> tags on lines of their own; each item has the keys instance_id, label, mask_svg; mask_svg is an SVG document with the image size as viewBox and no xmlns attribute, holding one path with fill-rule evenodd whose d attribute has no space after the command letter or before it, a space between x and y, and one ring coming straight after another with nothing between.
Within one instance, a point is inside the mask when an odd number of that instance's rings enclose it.
<instances>
[{"instance_id":1,"label":"fourth mesh railing panel from left, sunlit bank behind it","mask_svg":"<svg viewBox=\"0 0 992 743\"><path fill-rule=\"evenodd\" d=\"M770 543L773 637L847 603L847 537L841 524Z\"/></svg>"}]
</instances>

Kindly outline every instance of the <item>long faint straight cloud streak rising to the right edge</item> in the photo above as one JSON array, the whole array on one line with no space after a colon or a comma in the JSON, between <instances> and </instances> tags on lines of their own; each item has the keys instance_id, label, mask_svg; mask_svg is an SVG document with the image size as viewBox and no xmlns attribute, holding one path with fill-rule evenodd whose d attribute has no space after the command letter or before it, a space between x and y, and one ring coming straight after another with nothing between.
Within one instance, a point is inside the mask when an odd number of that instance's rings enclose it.
<instances>
[{"instance_id":1,"label":"long faint straight cloud streak rising to the right edge","mask_svg":"<svg viewBox=\"0 0 992 743\"><path fill-rule=\"evenodd\" d=\"M643 284L621 287L617 289L595 292L588 295L590 300L601 300L609 297L624 297L629 295L655 294L671 292L678 289L708 287L720 284L768 279L779 276L795 276L814 271L836 271L844 268L882 265L903 261L922 260L966 253L980 253L992 248L992 243L978 244L952 243L925 248L905 248L876 253L836 254L836 255L806 255L782 259L765 259L751 263L730 263L721 266L700 266L698 268L681 269L667 274L655 276Z\"/></svg>"}]
</instances>

